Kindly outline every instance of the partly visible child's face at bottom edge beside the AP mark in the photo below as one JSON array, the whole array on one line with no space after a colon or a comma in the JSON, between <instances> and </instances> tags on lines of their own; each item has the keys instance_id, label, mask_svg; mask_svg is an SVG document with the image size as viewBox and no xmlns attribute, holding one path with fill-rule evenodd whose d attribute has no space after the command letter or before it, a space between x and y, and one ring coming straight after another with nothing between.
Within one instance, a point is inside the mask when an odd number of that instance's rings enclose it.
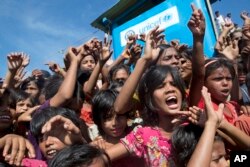
<instances>
[{"instance_id":1,"label":"partly visible child's face at bottom edge beside the AP mark","mask_svg":"<svg viewBox=\"0 0 250 167\"><path fill-rule=\"evenodd\" d=\"M210 167L228 167L229 164L225 159L225 145L222 141L215 141L213 144L212 160Z\"/></svg>"}]
</instances>

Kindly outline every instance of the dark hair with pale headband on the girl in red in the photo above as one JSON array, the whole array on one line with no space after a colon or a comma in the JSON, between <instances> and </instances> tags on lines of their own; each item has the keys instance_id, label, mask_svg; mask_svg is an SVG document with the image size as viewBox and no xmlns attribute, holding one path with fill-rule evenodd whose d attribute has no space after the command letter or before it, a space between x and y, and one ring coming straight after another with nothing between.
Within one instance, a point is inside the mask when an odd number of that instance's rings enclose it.
<instances>
[{"instance_id":1,"label":"dark hair with pale headband on the girl in red","mask_svg":"<svg viewBox=\"0 0 250 167\"><path fill-rule=\"evenodd\" d=\"M211 73L214 70L220 67L226 67L229 70L232 76L232 80L235 78L235 75L236 75L233 63L226 58L219 57L219 58L207 59L205 61L205 67L206 67L205 78L204 78L205 80L211 75Z\"/></svg>"}]
</instances>

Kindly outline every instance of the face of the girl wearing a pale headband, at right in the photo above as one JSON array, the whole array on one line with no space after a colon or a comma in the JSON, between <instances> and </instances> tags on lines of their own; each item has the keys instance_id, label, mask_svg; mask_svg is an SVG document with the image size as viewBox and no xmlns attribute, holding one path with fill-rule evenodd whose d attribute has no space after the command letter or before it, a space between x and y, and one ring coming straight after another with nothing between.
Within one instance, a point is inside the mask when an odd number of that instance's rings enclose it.
<instances>
[{"instance_id":1,"label":"face of the girl wearing a pale headband, at right","mask_svg":"<svg viewBox=\"0 0 250 167\"><path fill-rule=\"evenodd\" d=\"M205 81L205 86L211 97L218 102L225 102L232 89L232 75L228 68L220 67L214 70Z\"/></svg>"}]
</instances>

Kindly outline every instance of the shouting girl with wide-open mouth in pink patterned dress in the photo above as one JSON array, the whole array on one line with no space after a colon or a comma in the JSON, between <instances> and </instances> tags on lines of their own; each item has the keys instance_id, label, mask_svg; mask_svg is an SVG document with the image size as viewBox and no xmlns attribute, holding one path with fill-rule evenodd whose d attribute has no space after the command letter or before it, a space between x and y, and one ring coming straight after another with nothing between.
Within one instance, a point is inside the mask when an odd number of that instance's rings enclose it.
<instances>
[{"instance_id":1,"label":"shouting girl with wide-open mouth in pink patterned dress","mask_svg":"<svg viewBox=\"0 0 250 167\"><path fill-rule=\"evenodd\" d=\"M185 99L184 83L177 69L152 67L142 78L139 96L145 105L143 118L148 126L135 128L107 152L111 160L132 154L143 157L148 166L166 165L171 153L172 121L185 114L180 111Z\"/></svg>"}]
</instances>

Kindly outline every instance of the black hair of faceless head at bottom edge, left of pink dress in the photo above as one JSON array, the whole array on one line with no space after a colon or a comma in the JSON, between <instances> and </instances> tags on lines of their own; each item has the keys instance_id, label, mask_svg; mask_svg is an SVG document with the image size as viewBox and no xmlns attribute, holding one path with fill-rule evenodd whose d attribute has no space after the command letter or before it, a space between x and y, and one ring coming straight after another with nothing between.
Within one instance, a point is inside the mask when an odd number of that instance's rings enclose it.
<instances>
[{"instance_id":1,"label":"black hair of faceless head at bottom edge, left of pink dress","mask_svg":"<svg viewBox=\"0 0 250 167\"><path fill-rule=\"evenodd\" d=\"M103 150L88 144L74 145L61 150L49 162L49 167L87 167L98 158L106 167L110 166L110 158Z\"/></svg>"}]
</instances>

